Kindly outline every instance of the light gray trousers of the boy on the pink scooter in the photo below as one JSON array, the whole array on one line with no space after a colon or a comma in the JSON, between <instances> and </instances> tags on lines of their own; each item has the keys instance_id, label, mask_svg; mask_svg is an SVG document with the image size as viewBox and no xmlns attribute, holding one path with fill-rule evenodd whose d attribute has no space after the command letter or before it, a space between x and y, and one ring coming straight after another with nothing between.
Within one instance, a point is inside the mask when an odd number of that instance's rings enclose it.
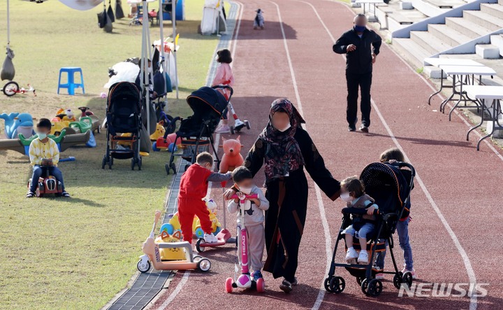
<instances>
[{"instance_id":1,"label":"light gray trousers of the boy on the pink scooter","mask_svg":"<svg viewBox=\"0 0 503 310\"><path fill-rule=\"evenodd\" d=\"M261 270L262 257L265 247L265 232L263 224L247 227L248 238L248 266L251 270ZM241 265L241 228L238 230L238 260Z\"/></svg>"}]
</instances>

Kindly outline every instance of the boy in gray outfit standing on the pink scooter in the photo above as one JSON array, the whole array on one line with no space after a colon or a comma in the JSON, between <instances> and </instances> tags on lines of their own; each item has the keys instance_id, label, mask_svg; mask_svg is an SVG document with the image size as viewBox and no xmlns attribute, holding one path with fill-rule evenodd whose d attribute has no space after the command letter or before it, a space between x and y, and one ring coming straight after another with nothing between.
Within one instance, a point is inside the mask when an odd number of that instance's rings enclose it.
<instances>
[{"instance_id":1,"label":"boy in gray outfit standing on the pink scooter","mask_svg":"<svg viewBox=\"0 0 503 310\"><path fill-rule=\"evenodd\" d=\"M262 256L265 246L263 211L269 209L269 202L268 199L265 199L262 190L254 185L251 172L246 167L236 168L233 171L232 176L235 187L239 190L239 192L237 192L238 196L254 194L258 196L258 198L256 199L247 199L244 206L245 227L248 234L248 258L251 270L254 271L251 276L253 277L254 281L257 281L258 279L262 278ZM240 199L231 199L227 206L227 209L230 213L236 213L240 211ZM238 233L240 232L241 227L241 214L238 213ZM240 242L238 242L238 253L241 253Z\"/></svg>"}]
</instances>

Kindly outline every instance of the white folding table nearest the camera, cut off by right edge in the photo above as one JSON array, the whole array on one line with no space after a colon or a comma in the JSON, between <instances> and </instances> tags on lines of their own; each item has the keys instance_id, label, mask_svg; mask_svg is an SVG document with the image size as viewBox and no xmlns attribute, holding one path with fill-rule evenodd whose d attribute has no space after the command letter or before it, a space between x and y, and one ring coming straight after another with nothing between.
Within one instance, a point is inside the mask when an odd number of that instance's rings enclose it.
<instances>
[{"instance_id":1,"label":"white folding table nearest the camera, cut off by right edge","mask_svg":"<svg viewBox=\"0 0 503 310\"><path fill-rule=\"evenodd\" d=\"M500 124L499 117L502 115L502 108L500 101L503 100L503 86L486 86L486 85L469 85L465 87L465 92L469 97L478 100L482 107L481 121L479 124L470 128L467 132L467 141L469 134L474 129L481 127L484 120L493 122L493 129L490 130L485 136L477 142L477 150L479 150L480 143L483 139L488 138L495 130L502 130L503 125ZM490 106L488 102L491 102ZM488 112L489 117L486 118L484 111Z\"/></svg>"}]
</instances>

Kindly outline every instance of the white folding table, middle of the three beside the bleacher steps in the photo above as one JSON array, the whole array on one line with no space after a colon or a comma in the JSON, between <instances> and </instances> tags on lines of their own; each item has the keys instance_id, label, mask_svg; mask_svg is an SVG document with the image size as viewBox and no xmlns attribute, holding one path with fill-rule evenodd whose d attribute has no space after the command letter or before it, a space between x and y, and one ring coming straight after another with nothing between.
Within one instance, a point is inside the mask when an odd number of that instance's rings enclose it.
<instances>
[{"instance_id":1,"label":"white folding table, middle of the three beside the bleacher steps","mask_svg":"<svg viewBox=\"0 0 503 310\"><path fill-rule=\"evenodd\" d=\"M451 111L449 111L449 121L451 120L453 111L458 107L461 101L465 101L465 106L467 101L474 102L478 112L480 107L478 101L470 99L469 96L467 96L466 92L463 91L463 85L475 85L475 76L479 76L479 85L481 85L482 76L495 76L496 71L488 66L440 65L439 68L442 69L442 72L445 72L446 75L451 76L453 79L453 91L451 95L442 101L442 104L440 104L440 111L443 113L447 103L451 101L456 94L458 94L458 101L451 108ZM470 77L472 78L471 80ZM458 80L458 82L456 82L456 80ZM459 90L456 90L457 86L459 86Z\"/></svg>"}]
</instances>

